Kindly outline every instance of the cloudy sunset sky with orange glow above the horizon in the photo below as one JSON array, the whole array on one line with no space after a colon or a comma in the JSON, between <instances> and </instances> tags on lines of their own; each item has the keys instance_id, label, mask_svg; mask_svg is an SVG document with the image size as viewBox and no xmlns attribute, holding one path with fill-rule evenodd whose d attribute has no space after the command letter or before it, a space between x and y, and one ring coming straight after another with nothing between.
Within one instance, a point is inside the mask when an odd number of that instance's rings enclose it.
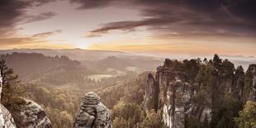
<instances>
[{"instance_id":1,"label":"cloudy sunset sky with orange glow above the horizon","mask_svg":"<svg viewBox=\"0 0 256 128\"><path fill-rule=\"evenodd\" d=\"M0 0L0 49L256 57L255 0Z\"/></svg>"}]
</instances>

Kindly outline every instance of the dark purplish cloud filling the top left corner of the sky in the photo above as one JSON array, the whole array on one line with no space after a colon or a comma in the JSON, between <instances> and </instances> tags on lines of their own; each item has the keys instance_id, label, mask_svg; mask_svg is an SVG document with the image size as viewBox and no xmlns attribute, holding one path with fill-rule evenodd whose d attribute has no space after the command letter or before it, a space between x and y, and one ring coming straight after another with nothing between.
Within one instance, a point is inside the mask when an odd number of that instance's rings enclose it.
<instances>
[{"instance_id":1,"label":"dark purplish cloud filling the top left corner of the sky","mask_svg":"<svg viewBox=\"0 0 256 128\"><path fill-rule=\"evenodd\" d=\"M37 7L54 0L3 0L0 2L0 36L15 31L17 23L24 20L26 9L29 7ZM46 12L40 16L30 17L29 21L43 20L46 17L52 17L53 13ZM26 19L27 20L27 19Z\"/></svg>"}]
</instances>

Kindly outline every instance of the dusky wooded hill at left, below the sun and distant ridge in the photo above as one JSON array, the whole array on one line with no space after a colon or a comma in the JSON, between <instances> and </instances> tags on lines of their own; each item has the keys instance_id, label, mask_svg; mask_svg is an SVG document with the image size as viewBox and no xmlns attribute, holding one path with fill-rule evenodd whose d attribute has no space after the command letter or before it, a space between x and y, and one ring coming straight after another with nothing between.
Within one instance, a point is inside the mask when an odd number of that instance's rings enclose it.
<instances>
[{"instance_id":1,"label":"dusky wooded hill at left, below the sun and distant ridge","mask_svg":"<svg viewBox=\"0 0 256 128\"><path fill-rule=\"evenodd\" d=\"M23 82L40 80L69 83L78 78L83 79L86 73L91 73L77 60L64 55L50 57L37 53L15 52L11 55L1 55L0 59L6 60L7 66L14 69Z\"/></svg>"}]
</instances>

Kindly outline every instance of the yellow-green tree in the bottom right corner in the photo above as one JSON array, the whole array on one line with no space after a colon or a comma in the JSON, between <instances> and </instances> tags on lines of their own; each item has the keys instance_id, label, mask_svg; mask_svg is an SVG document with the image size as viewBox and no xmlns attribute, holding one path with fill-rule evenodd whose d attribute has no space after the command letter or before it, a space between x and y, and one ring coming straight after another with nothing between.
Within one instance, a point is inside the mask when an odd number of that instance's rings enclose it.
<instances>
[{"instance_id":1,"label":"yellow-green tree in the bottom right corner","mask_svg":"<svg viewBox=\"0 0 256 128\"><path fill-rule=\"evenodd\" d=\"M239 117L235 118L235 124L239 128L256 127L256 102L246 102L243 111L239 111Z\"/></svg>"}]
</instances>

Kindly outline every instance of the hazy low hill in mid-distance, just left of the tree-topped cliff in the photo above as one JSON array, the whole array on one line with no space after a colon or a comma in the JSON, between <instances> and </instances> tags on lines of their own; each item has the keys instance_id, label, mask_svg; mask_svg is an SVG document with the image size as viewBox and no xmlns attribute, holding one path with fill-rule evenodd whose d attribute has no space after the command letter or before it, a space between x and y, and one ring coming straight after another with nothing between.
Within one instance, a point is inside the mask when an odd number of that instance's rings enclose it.
<instances>
[{"instance_id":1,"label":"hazy low hill in mid-distance, just left of the tree-topped cliff","mask_svg":"<svg viewBox=\"0 0 256 128\"><path fill-rule=\"evenodd\" d=\"M97 61L82 61L89 69L105 71L106 73L127 73L152 71L161 64L160 59L145 56L116 57L109 56L106 59Z\"/></svg>"}]
</instances>

